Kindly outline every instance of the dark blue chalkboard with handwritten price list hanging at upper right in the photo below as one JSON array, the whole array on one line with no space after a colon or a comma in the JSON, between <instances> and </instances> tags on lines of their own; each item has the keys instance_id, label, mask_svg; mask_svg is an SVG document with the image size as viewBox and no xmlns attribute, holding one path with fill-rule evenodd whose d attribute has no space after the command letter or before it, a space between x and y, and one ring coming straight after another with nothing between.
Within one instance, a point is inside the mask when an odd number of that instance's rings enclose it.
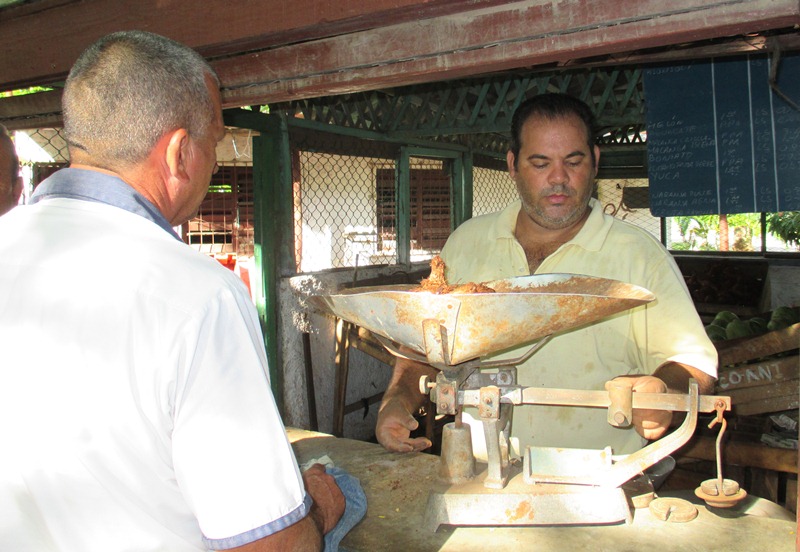
<instances>
[{"instance_id":1,"label":"dark blue chalkboard with handwritten price list hanging at upper right","mask_svg":"<svg viewBox=\"0 0 800 552\"><path fill-rule=\"evenodd\" d=\"M654 216L800 210L800 112L769 74L766 56L644 71ZM800 103L800 56L777 75Z\"/></svg>"}]
</instances>

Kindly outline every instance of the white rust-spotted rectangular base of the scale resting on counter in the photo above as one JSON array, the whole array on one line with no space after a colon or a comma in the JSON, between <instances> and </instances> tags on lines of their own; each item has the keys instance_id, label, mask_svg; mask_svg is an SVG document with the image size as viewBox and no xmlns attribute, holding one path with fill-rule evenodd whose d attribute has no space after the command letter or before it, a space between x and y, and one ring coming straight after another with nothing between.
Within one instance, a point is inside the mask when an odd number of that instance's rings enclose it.
<instances>
[{"instance_id":1,"label":"white rust-spotted rectangular base of the scale resting on counter","mask_svg":"<svg viewBox=\"0 0 800 552\"><path fill-rule=\"evenodd\" d=\"M503 489L484 487L486 470L457 485L438 483L428 496L426 525L610 525L631 523L631 506L619 487L525 483L511 477Z\"/></svg>"}]
</instances>

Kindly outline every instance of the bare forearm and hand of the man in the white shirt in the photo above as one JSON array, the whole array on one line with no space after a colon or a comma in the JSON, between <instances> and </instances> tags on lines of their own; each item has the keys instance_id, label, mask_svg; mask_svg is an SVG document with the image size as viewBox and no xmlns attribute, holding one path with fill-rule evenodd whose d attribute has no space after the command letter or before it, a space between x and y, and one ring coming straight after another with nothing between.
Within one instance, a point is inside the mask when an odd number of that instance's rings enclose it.
<instances>
[{"instance_id":1,"label":"bare forearm and hand of the man in the white shirt","mask_svg":"<svg viewBox=\"0 0 800 552\"><path fill-rule=\"evenodd\" d=\"M277 552L283 550L322 550L323 535L330 532L344 514L345 498L334 477L322 464L314 464L303 473L303 482L314 504L309 515L268 537L231 552Z\"/></svg>"}]
</instances>

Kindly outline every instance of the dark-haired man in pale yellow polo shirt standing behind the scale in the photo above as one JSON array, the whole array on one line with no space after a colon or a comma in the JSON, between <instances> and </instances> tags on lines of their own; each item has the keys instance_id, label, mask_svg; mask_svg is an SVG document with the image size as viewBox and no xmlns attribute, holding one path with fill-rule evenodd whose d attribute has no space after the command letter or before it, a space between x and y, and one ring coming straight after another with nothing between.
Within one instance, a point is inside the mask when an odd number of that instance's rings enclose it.
<instances>
[{"instance_id":1,"label":"dark-haired man in pale yellow polo shirt standing behind the scale","mask_svg":"<svg viewBox=\"0 0 800 552\"><path fill-rule=\"evenodd\" d=\"M600 158L593 126L589 107L570 96L546 94L520 105L507 155L520 199L465 222L450 236L441 254L447 280L575 273L642 286L655 301L554 336L518 367L518 383L602 390L620 378L635 392L685 393L694 378L700 392L708 393L716 377L716 350L675 261L650 234L606 215L592 199ZM504 356L519 357L526 349ZM430 446L424 437L410 438L410 432L418 425L412 413L424 399L419 377L435 373L398 359L376 428L387 449ZM603 409L526 405L514 410L511 444L517 454L527 445L611 446L614 454L629 454L661 437L671 421L668 411L637 410L633 427L621 429L608 424ZM473 438L473 444L482 440Z\"/></svg>"}]
</instances>

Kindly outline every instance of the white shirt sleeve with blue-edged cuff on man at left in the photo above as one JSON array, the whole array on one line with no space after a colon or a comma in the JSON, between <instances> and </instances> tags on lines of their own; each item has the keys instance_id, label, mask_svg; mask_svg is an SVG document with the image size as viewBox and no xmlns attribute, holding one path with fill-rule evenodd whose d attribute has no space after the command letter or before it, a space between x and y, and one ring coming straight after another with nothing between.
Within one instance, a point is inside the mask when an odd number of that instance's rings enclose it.
<instances>
[{"instance_id":1,"label":"white shirt sleeve with blue-edged cuff on man at left","mask_svg":"<svg viewBox=\"0 0 800 552\"><path fill-rule=\"evenodd\" d=\"M173 461L206 543L239 546L302 519L310 500L249 298L223 289L206 301L187 321L175 355Z\"/></svg>"}]
</instances>

